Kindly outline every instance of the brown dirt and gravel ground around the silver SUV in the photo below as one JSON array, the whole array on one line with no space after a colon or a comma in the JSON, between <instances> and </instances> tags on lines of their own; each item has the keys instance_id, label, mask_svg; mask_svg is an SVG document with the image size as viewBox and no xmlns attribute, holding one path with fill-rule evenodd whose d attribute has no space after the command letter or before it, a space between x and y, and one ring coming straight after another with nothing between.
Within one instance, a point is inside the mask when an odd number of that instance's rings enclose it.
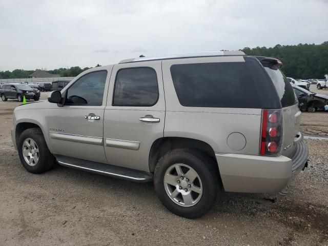
<instances>
[{"instance_id":1,"label":"brown dirt and gravel ground around the silver SUV","mask_svg":"<svg viewBox=\"0 0 328 246\"><path fill-rule=\"evenodd\" d=\"M151 183L60 166L28 173L10 139L16 105L0 102L0 245L328 245L328 141L306 140L309 168L275 202L225 193L190 220L166 210ZM302 115L302 130L327 132L328 113Z\"/></svg>"}]
</instances>

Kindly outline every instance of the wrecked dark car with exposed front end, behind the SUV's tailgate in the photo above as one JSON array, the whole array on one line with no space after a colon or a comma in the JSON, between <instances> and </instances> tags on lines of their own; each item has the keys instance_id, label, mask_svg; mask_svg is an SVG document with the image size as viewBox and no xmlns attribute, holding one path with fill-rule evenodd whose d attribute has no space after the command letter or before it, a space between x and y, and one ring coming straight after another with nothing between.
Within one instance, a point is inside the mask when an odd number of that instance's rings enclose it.
<instances>
[{"instance_id":1,"label":"wrecked dark car with exposed front end, behind the SUV's tailgate","mask_svg":"<svg viewBox=\"0 0 328 246\"><path fill-rule=\"evenodd\" d=\"M328 105L327 95L311 92L295 85L292 85L292 87L297 96L300 111L321 111L324 110L325 105Z\"/></svg>"}]
</instances>

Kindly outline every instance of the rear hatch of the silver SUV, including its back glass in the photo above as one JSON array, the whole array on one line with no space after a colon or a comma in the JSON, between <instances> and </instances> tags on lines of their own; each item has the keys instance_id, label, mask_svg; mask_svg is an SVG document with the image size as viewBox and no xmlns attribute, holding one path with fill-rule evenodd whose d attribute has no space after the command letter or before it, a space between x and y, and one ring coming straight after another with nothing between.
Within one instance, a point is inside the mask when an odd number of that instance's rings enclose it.
<instances>
[{"instance_id":1,"label":"rear hatch of the silver SUV, including its back glass","mask_svg":"<svg viewBox=\"0 0 328 246\"><path fill-rule=\"evenodd\" d=\"M283 138L281 154L290 157L294 153L294 139L299 132L301 112L298 109L298 102L293 87L280 69L277 66L263 63L262 65L273 81L282 106Z\"/></svg>"}]
</instances>

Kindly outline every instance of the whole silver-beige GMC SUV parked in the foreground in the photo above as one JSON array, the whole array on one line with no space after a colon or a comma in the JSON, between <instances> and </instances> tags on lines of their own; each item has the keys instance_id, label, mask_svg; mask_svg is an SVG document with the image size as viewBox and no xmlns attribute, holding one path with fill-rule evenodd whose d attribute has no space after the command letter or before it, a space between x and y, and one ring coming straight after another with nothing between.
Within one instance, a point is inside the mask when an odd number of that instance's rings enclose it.
<instances>
[{"instance_id":1,"label":"whole silver-beige GMC SUV parked in the foreground","mask_svg":"<svg viewBox=\"0 0 328 246\"><path fill-rule=\"evenodd\" d=\"M48 101L14 111L32 173L56 162L148 182L173 213L198 217L221 192L278 192L302 170L292 86L275 58L242 52L135 58L89 69Z\"/></svg>"}]
</instances>

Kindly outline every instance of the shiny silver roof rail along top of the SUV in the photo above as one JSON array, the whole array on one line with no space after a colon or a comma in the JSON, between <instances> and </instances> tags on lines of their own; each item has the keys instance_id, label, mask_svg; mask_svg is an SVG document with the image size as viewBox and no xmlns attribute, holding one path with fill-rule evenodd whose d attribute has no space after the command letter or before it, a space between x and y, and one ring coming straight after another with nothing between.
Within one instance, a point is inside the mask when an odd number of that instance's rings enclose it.
<instances>
[{"instance_id":1,"label":"shiny silver roof rail along top of the SUV","mask_svg":"<svg viewBox=\"0 0 328 246\"><path fill-rule=\"evenodd\" d=\"M121 60L119 63L135 63L137 61L146 61L146 60L165 60L165 59L177 59L177 58L229 56L229 55L245 55L245 53L238 50L237 51L211 51L211 52L201 52L201 53L163 55L163 56L155 56L155 57L137 57L137 58Z\"/></svg>"}]
</instances>

